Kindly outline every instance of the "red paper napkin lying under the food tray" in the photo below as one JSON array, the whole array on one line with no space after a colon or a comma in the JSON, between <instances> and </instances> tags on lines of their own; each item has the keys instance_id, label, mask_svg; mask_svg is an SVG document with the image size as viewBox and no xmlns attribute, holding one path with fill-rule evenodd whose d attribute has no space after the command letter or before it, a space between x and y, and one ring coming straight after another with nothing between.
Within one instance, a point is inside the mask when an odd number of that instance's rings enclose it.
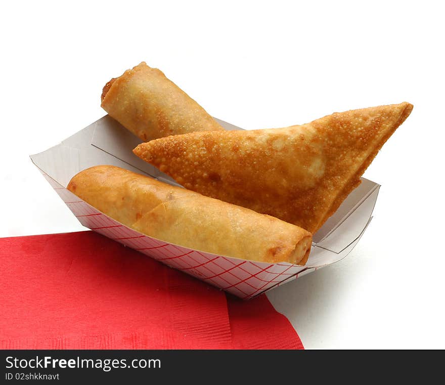
<instances>
[{"instance_id":1,"label":"red paper napkin lying under the food tray","mask_svg":"<svg viewBox=\"0 0 445 385\"><path fill-rule=\"evenodd\" d=\"M0 349L302 349L225 294L92 231L0 238Z\"/></svg>"}]
</instances>

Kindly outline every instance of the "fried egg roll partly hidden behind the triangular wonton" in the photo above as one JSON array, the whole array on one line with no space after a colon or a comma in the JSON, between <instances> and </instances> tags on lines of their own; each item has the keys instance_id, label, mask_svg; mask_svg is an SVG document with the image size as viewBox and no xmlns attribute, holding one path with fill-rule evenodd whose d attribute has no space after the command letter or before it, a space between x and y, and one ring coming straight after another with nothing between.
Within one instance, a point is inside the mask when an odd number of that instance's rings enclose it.
<instances>
[{"instance_id":1,"label":"fried egg roll partly hidden behind the triangular wonton","mask_svg":"<svg viewBox=\"0 0 445 385\"><path fill-rule=\"evenodd\" d=\"M101 105L145 142L194 131L224 130L160 70L144 62L111 79L103 89Z\"/></svg>"}]
</instances>

